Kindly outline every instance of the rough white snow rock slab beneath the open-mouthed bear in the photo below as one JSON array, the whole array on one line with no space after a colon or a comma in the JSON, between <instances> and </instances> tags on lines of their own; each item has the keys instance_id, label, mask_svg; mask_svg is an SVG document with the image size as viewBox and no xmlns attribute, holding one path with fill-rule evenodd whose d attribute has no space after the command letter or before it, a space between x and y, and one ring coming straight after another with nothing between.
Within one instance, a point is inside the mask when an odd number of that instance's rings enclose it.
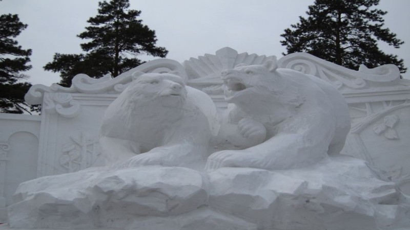
<instances>
[{"instance_id":1,"label":"rough white snow rock slab beneath the open-mouthed bear","mask_svg":"<svg viewBox=\"0 0 410 230\"><path fill-rule=\"evenodd\" d=\"M344 156L297 170L221 168L210 185L212 208L262 229L378 229L393 226L402 209L394 183Z\"/></svg>"}]
</instances>

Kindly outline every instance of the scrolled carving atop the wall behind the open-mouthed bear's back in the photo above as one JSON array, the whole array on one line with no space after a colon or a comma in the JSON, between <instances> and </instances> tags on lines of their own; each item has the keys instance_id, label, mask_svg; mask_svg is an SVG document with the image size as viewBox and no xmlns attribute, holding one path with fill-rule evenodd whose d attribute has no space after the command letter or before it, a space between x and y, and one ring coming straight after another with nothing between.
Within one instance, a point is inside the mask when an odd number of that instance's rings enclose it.
<instances>
[{"instance_id":1,"label":"scrolled carving atop the wall behind the open-mouthed bear's back","mask_svg":"<svg viewBox=\"0 0 410 230\"><path fill-rule=\"evenodd\" d=\"M400 78L399 68L393 64L372 69L361 65L359 71L354 71L307 53L286 55L278 61L278 65L280 68L314 75L332 83L338 89L363 89L379 82L387 86Z\"/></svg>"}]
</instances>

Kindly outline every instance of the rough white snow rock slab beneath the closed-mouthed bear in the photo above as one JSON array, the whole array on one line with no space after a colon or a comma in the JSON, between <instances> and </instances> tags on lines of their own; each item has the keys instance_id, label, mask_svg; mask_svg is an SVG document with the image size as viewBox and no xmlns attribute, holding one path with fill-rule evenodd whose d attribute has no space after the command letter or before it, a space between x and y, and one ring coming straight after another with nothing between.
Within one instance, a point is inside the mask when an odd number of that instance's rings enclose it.
<instances>
[{"instance_id":1,"label":"rough white snow rock slab beneath the closed-mouthed bear","mask_svg":"<svg viewBox=\"0 0 410 230\"><path fill-rule=\"evenodd\" d=\"M93 168L22 183L9 206L11 227L125 227L138 216L195 210L208 200L207 182L179 167Z\"/></svg>"}]
</instances>

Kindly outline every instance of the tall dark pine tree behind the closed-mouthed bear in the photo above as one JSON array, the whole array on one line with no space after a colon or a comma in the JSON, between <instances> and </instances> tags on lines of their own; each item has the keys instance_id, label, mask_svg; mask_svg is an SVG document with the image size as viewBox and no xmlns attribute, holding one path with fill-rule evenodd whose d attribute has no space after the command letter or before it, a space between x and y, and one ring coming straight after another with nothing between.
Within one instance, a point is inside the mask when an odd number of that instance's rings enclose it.
<instances>
[{"instance_id":1,"label":"tall dark pine tree behind the closed-mouthed bear","mask_svg":"<svg viewBox=\"0 0 410 230\"><path fill-rule=\"evenodd\" d=\"M155 31L137 19L141 11L128 10L129 0L104 1L98 6L98 15L88 19L90 26L77 35L90 40L81 44L86 53L56 53L53 61L44 66L47 71L60 73L61 85L69 86L79 73L95 78L110 73L116 77L141 64L136 58L140 54L165 57L168 53L165 48L155 46Z\"/></svg>"}]
</instances>

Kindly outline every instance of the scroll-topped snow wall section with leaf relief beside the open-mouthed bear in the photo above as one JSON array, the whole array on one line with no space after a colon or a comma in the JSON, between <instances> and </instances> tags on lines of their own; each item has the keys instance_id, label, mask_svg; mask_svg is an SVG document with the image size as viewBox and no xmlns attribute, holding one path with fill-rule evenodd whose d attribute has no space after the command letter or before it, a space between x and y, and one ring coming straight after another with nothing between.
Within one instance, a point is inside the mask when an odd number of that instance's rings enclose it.
<instances>
[{"instance_id":1,"label":"scroll-topped snow wall section with leaf relief beside the open-mouthed bear","mask_svg":"<svg viewBox=\"0 0 410 230\"><path fill-rule=\"evenodd\" d=\"M343 154L367 160L386 180L410 179L410 81L400 79L397 66L353 71L305 53L279 62L331 82L343 94L352 119Z\"/></svg>"}]
</instances>

